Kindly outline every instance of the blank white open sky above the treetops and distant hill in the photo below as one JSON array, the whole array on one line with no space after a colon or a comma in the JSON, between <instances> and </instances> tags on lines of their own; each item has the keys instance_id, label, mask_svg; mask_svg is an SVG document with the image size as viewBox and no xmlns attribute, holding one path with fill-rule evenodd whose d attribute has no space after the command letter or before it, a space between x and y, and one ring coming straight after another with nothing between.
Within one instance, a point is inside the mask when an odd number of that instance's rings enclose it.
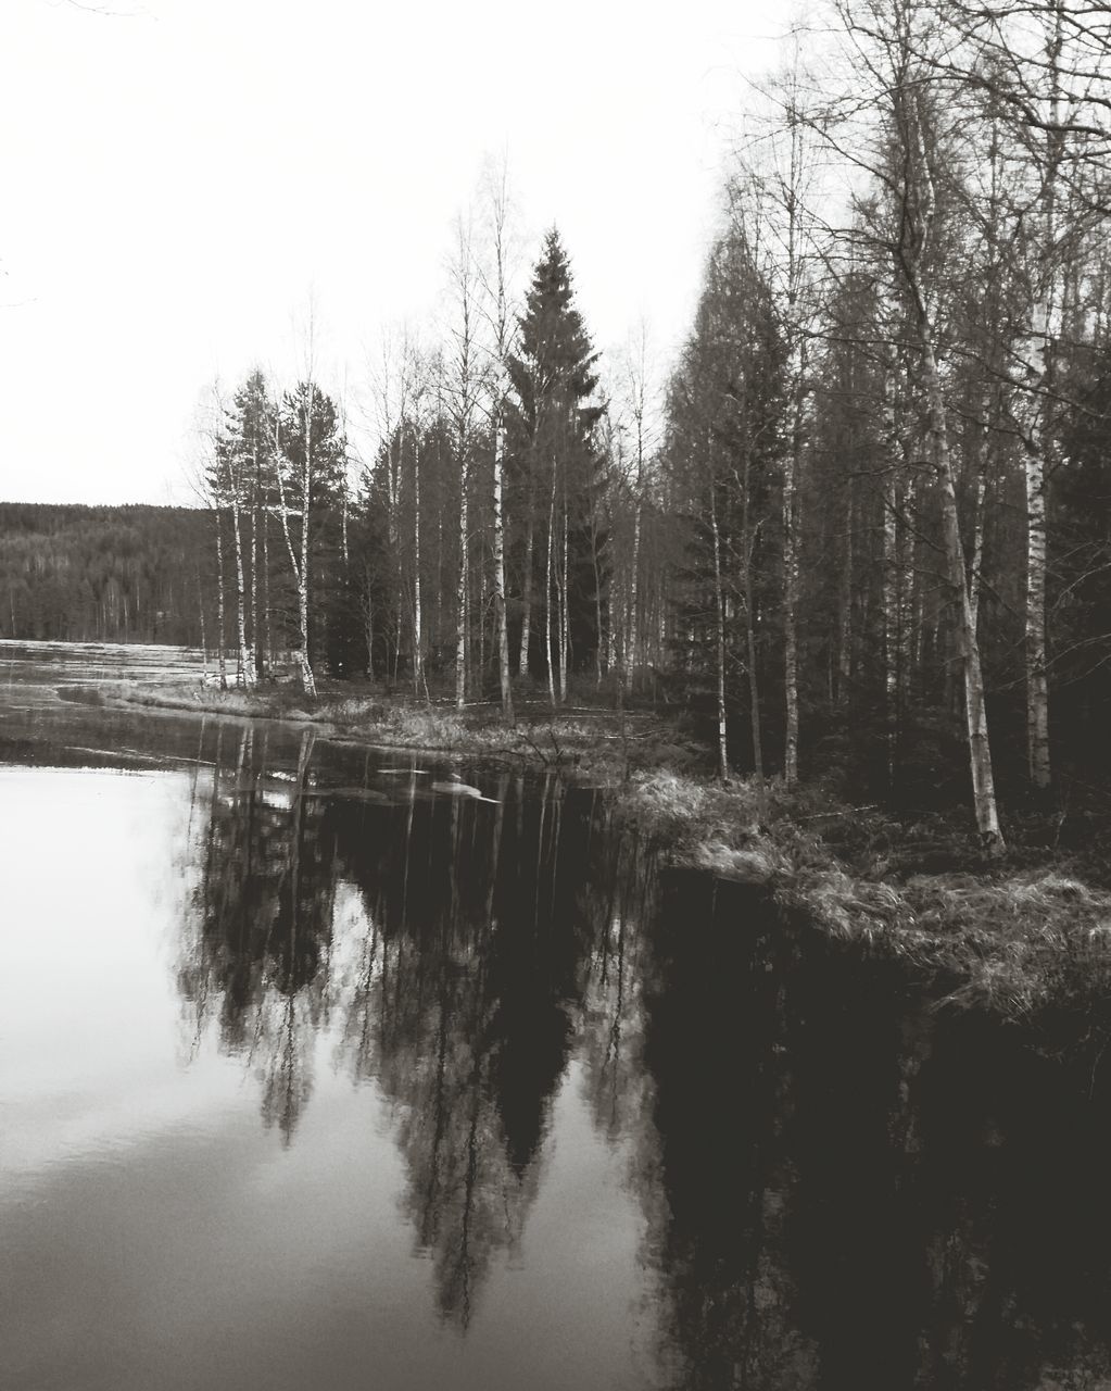
<instances>
[{"instance_id":1,"label":"blank white open sky above the treetops and distant hill","mask_svg":"<svg viewBox=\"0 0 1111 1391\"><path fill-rule=\"evenodd\" d=\"M3 0L0 501L195 502L206 391L254 364L292 381L310 303L321 384L368 420L382 335L446 314L452 227L491 159L526 278L558 225L595 345L644 319L666 362L783 18Z\"/></svg>"}]
</instances>

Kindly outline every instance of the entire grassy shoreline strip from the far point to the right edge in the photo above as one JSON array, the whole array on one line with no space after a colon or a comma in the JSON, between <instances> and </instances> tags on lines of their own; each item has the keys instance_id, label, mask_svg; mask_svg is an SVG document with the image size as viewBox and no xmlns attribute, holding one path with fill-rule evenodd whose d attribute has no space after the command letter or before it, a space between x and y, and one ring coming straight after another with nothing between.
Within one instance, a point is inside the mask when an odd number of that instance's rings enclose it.
<instances>
[{"instance_id":1,"label":"entire grassy shoreline strip from the far point to the right edge","mask_svg":"<svg viewBox=\"0 0 1111 1391\"><path fill-rule=\"evenodd\" d=\"M980 857L954 818L908 822L820 786L772 780L762 814L752 782L723 787L711 758L672 719L615 709L552 714L521 704L462 711L324 687L259 691L129 683L111 704L305 722L331 737L448 758L552 768L613 789L616 817L677 865L762 885L787 912L832 936L943 978L954 1003L1007 1018L1111 997L1111 885L1092 860L1008 828L1008 854ZM1060 828L1058 828L1060 830ZM1058 836L1060 839L1060 836ZM1044 842L1044 836L1041 836Z\"/></svg>"}]
</instances>

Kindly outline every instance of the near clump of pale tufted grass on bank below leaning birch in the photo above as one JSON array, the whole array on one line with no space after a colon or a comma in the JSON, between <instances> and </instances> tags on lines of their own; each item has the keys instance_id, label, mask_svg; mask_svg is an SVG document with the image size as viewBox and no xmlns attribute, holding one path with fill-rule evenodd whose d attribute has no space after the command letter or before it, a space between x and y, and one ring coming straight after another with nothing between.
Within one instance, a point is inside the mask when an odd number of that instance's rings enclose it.
<instances>
[{"instance_id":1,"label":"near clump of pale tufted grass on bank below leaning birch","mask_svg":"<svg viewBox=\"0 0 1111 1391\"><path fill-rule=\"evenodd\" d=\"M987 860L951 819L907 823L776 782L766 797L761 823L751 783L644 773L617 814L673 862L763 885L788 914L907 960L951 1004L1032 1020L1111 1000L1111 885L1032 826L1015 823L1008 854Z\"/></svg>"}]
</instances>

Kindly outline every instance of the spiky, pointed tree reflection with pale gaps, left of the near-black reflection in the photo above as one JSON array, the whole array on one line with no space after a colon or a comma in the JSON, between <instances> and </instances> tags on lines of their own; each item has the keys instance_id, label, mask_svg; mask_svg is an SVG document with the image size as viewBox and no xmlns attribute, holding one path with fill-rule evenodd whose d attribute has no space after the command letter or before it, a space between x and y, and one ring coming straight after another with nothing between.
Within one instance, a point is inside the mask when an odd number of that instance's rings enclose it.
<instances>
[{"instance_id":1,"label":"spiky, pointed tree reflection with pale gaps, left of the near-black reflection","mask_svg":"<svg viewBox=\"0 0 1111 1391\"><path fill-rule=\"evenodd\" d=\"M368 764L330 786L313 751L306 733L275 776L245 729L195 783L186 1029L193 1050L216 1032L242 1059L286 1145L334 1029L334 1066L392 1104L417 1248L466 1327L538 1191L613 837L595 793L552 779L537 794L488 776L478 801Z\"/></svg>"}]
</instances>

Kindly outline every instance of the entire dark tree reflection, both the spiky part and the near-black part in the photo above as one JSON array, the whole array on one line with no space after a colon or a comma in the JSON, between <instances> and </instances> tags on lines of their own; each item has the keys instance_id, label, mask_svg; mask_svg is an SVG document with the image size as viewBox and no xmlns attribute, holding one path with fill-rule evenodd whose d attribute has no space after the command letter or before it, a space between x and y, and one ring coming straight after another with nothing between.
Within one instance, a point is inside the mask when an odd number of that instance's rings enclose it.
<instances>
[{"instance_id":1,"label":"entire dark tree reflection, both the spiky part and the near-black part","mask_svg":"<svg viewBox=\"0 0 1111 1391\"><path fill-rule=\"evenodd\" d=\"M672 876L553 778L495 804L221 736L181 993L289 1145L318 1043L389 1102L405 1210L466 1328L516 1257L576 1057L642 1213L662 1384L1111 1377L1107 1096L901 970ZM1076 1370L1082 1369L1082 1370Z\"/></svg>"}]
</instances>

